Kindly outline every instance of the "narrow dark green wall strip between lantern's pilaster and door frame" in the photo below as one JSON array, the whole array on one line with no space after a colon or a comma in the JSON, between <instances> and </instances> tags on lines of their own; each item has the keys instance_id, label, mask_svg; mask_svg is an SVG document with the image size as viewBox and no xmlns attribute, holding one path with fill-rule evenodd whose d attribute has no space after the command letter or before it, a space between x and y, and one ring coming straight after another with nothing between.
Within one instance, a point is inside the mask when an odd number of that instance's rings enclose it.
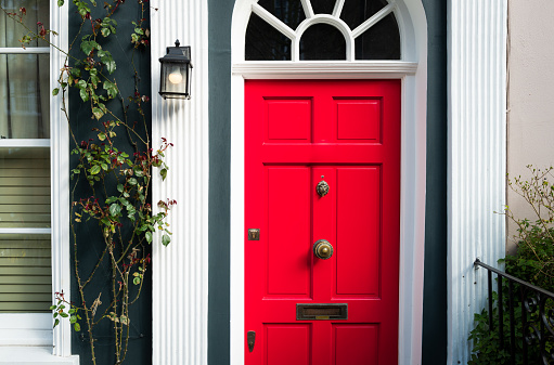
<instances>
[{"instance_id":1,"label":"narrow dark green wall strip between lantern's pilaster and door frame","mask_svg":"<svg viewBox=\"0 0 554 365\"><path fill-rule=\"evenodd\" d=\"M208 364L229 364L231 14L234 0L208 0L209 292Z\"/></svg>"}]
</instances>

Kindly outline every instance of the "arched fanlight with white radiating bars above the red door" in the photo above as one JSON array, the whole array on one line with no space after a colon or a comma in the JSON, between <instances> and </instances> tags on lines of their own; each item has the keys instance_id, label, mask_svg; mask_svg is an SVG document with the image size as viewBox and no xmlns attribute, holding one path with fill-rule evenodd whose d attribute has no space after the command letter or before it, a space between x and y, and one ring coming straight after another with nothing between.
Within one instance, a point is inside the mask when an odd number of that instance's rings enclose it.
<instances>
[{"instance_id":1,"label":"arched fanlight with white radiating bars above the red door","mask_svg":"<svg viewBox=\"0 0 554 365\"><path fill-rule=\"evenodd\" d=\"M245 60L400 60L394 11L387 0L259 0Z\"/></svg>"}]
</instances>

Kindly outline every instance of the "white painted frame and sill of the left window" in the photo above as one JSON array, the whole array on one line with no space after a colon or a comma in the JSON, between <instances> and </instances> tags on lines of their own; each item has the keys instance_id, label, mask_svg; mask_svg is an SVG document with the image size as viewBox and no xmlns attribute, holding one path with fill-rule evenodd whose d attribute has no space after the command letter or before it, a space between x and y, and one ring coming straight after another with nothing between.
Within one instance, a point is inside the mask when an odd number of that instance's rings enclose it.
<instances>
[{"instance_id":1,"label":"white painted frame and sill of the left window","mask_svg":"<svg viewBox=\"0 0 554 365\"><path fill-rule=\"evenodd\" d=\"M68 49L68 4L57 6L50 0L50 26L59 36L51 36L52 45L41 48L0 48L0 53L50 54L50 90L59 87L60 70L66 62L59 50ZM50 95L50 140L0 140L0 147L50 147L51 168L51 229L0 229L0 233L50 234L52 247L52 299L54 292L70 298L69 250L69 129L65 118L62 96ZM67 110L68 113L68 110ZM66 357L60 363L78 364L72 355L70 326L61 321L52 329L50 313L0 314L0 352L11 362L52 363L52 355ZM16 336L14 336L16 335ZM20 347L24 350L21 350ZM31 348L29 348L31 347ZM20 350L17 350L20 349ZM1 363L1 360L0 360Z\"/></svg>"}]
</instances>

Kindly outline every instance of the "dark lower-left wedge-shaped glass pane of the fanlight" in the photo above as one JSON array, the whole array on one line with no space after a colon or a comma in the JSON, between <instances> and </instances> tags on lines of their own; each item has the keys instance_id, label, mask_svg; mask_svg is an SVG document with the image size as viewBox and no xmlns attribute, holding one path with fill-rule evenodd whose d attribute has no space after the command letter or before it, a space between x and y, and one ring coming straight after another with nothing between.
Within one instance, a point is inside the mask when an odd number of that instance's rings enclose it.
<instances>
[{"instance_id":1,"label":"dark lower-left wedge-shaped glass pane of the fanlight","mask_svg":"<svg viewBox=\"0 0 554 365\"><path fill-rule=\"evenodd\" d=\"M291 39L252 13L246 28L246 61L291 61Z\"/></svg>"}]
</instances>

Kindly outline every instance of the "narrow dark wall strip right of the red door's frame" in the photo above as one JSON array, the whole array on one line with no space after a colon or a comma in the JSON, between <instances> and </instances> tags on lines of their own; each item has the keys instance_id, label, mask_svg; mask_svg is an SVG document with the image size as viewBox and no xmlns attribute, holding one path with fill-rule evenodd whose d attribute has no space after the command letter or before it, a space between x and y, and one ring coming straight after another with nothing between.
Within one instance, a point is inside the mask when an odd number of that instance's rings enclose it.
<instances>
[{"instance_id":1,"label":"narrow dark wall strip right of the red door's frame","mask_svg":"<svg viewBox=\"0 0 554 365\"><path fill-rule=\"evenodd\" d=\"M447 362L447 2L423 0L427 15L427 198L423 365Z\"/></svg>"}]
</instances>

